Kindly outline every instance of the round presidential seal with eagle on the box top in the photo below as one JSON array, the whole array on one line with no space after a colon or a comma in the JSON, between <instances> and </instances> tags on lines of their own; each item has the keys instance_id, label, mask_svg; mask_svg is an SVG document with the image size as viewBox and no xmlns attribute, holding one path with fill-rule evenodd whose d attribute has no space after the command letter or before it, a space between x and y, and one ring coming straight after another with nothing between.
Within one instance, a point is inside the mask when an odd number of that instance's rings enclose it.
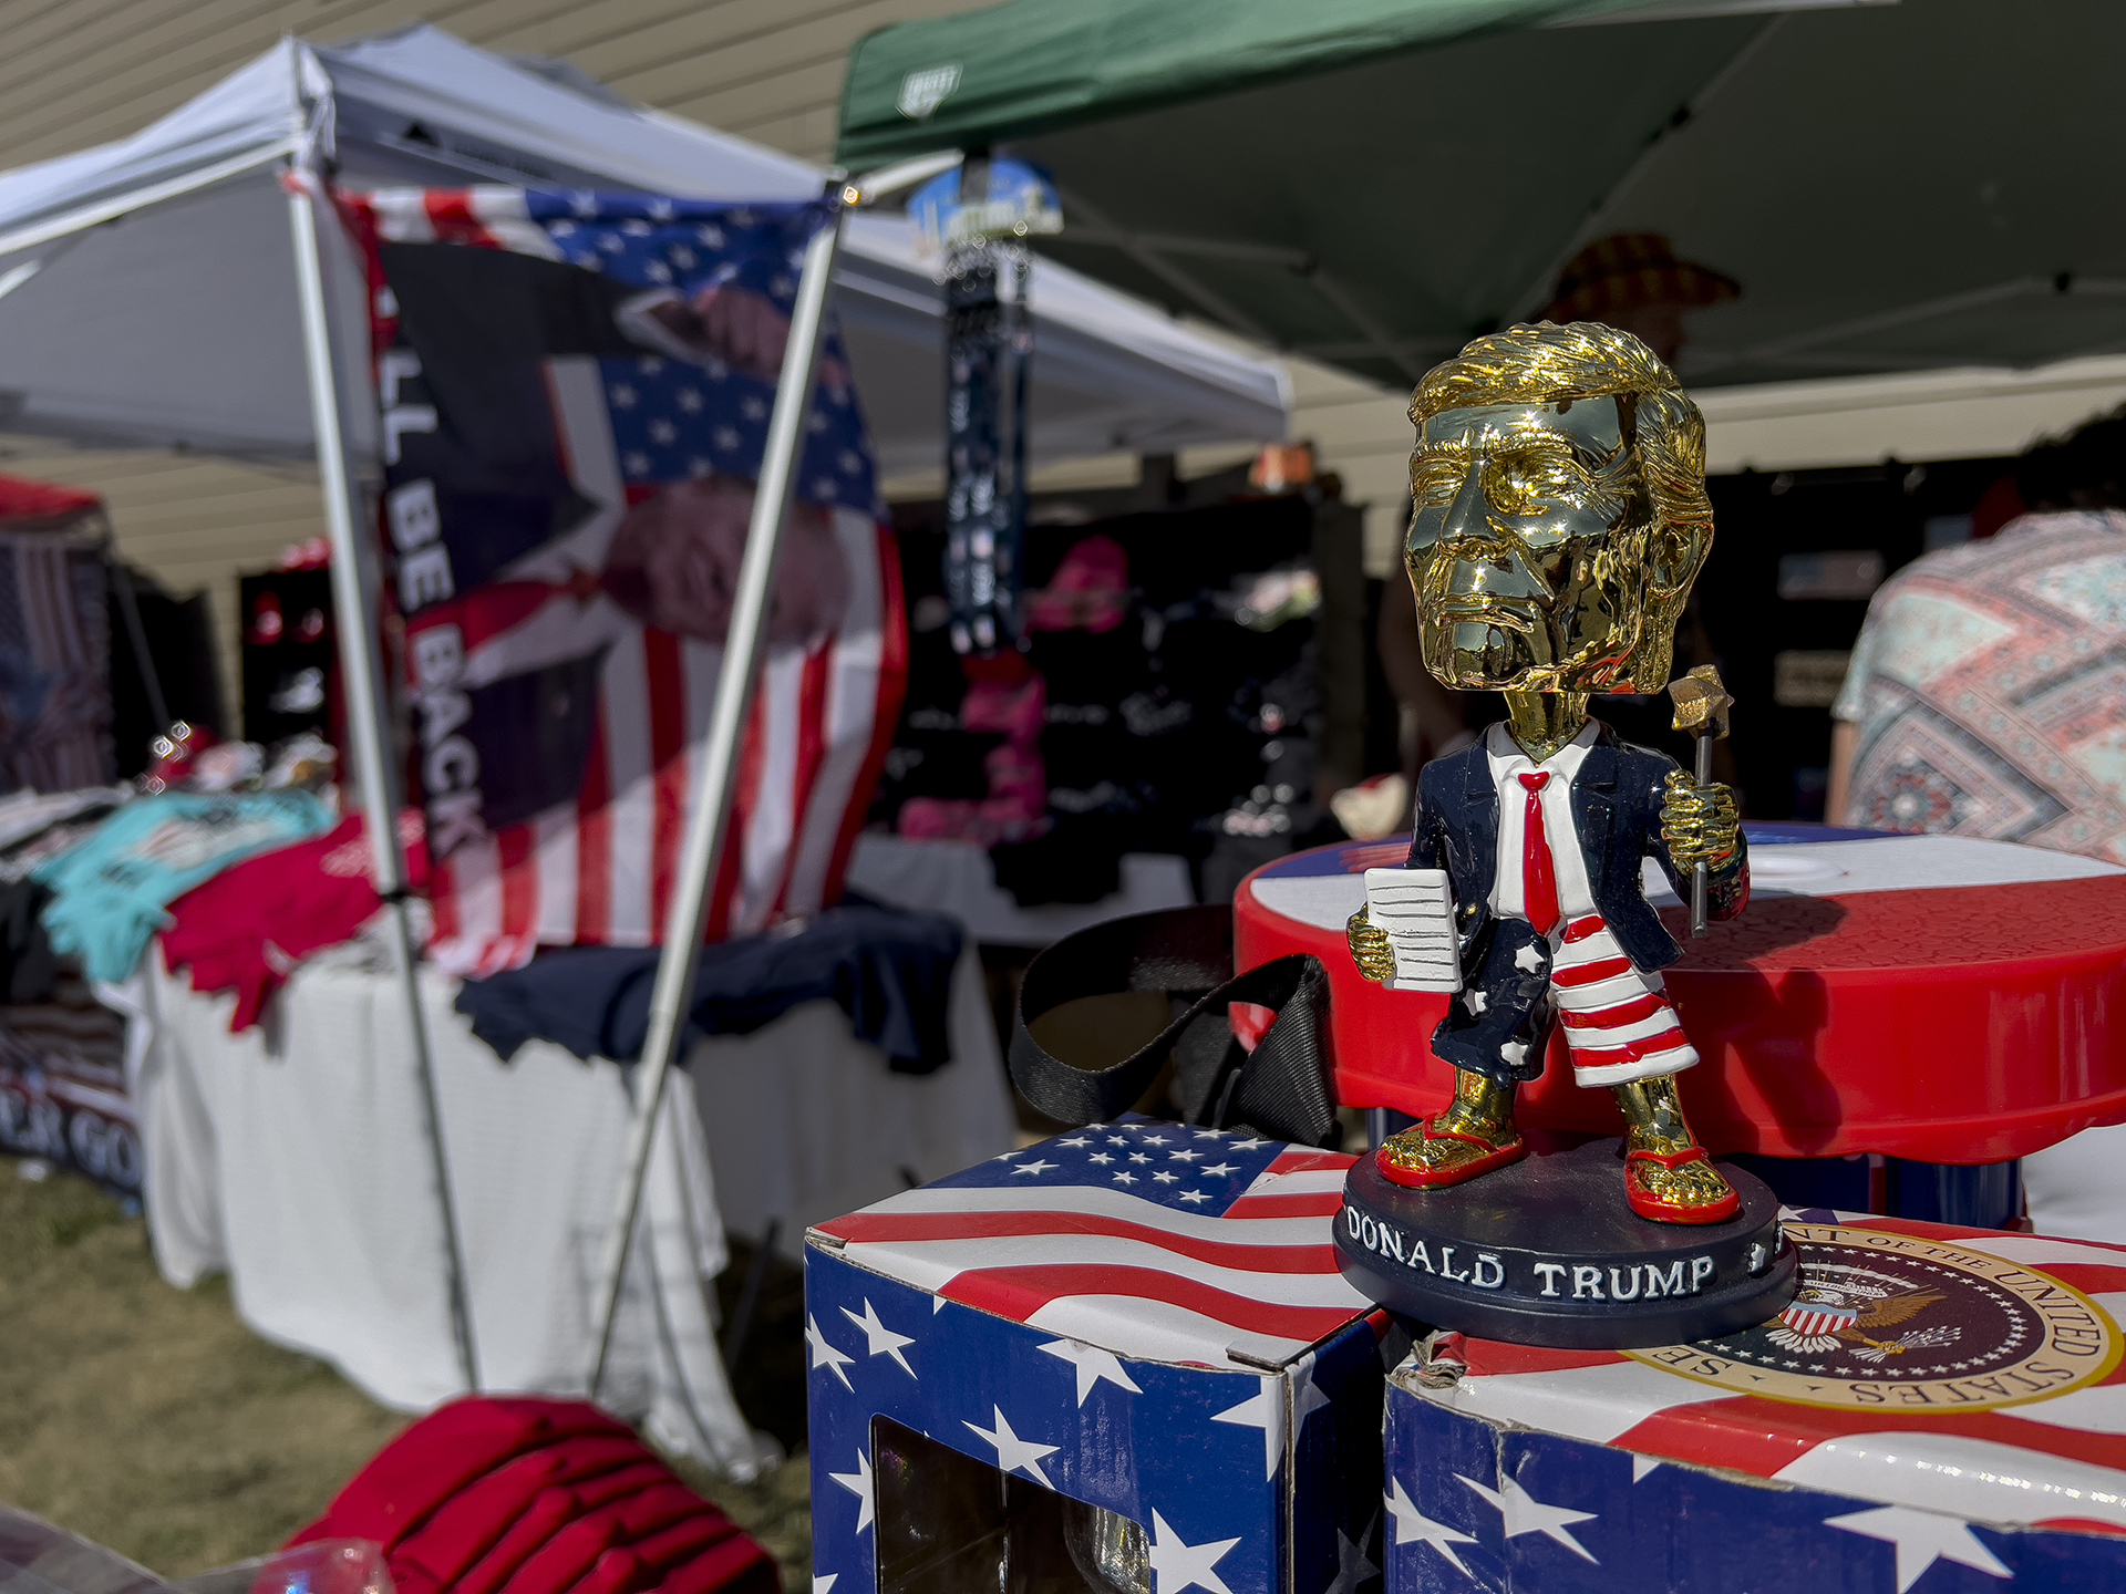
<instances>
[{"instance_id":1,"label":"round presidential seal with eagle on the box top","mask_svg":"<svg viewBox=\"0 0 2126 1594\"><path fill-rule=\"evenodd\" d=\"M1777 1318L1626 1354L1735 1394L1950 1413L2094 1384L2126 1347L2073 1286L1954 1241L1839 1224L1786 1237L1801 1290Z\"/></svg>"}]
</instances>

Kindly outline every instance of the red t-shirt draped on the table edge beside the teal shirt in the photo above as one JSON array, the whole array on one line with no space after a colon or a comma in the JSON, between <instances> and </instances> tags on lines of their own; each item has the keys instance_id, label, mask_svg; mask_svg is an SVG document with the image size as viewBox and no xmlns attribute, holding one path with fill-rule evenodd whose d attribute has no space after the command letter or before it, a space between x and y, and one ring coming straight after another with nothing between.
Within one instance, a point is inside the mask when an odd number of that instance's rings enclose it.
<instances>
[{"instance_id":1,"label":"red t-shirt draped on the table edge beside the teal shirt","mask_svg":"<svg viewBox=\"0 0 2126 1594\"><path fill-rule=\"evenodd\" d=\"M421 816L400 816L400 848L410 884L427 884ZM162 959L170 973L191 969L200 993L236 990L230 1033L257 1022L268 997L313 952L353 939L383 908L372 884L361 814L279 852L259 852L170 903Z\"/></svg>"}]
</instances>

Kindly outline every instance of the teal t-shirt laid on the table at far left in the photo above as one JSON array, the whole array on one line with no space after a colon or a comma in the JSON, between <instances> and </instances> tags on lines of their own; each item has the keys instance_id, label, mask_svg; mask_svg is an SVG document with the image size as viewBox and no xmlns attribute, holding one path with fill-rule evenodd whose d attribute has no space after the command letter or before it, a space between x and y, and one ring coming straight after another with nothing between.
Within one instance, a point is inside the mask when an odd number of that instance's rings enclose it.
<instances>
[{"instance_id":1,"label":"teal t-shirt laid on the table at far left","mask_svg":"<svg viewBox=\"0 0 2126 1594\"><path fill-rule=\"evenodd\" d=\"M164 905L232 863L330 831L334 814L306 791L198 795L166 791L115 812L87 842L40 863L51 888L45 933L91 980L123 980L168 914Z\"/></svg>"}]
</instances>

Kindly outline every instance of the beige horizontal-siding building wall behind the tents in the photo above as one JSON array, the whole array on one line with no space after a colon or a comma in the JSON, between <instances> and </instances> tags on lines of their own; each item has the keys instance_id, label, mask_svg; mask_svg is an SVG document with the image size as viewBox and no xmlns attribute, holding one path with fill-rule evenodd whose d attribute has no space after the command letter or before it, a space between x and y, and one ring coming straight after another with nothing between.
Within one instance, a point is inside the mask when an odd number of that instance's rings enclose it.
<instances>
[{"instance_id":1,"label":"beige horizontal-siding building wall behind the tents","mask_svg":"<svg viewBox=\"0 0 2126 1594\"><path fill-rule=\"evenodd\" d=\"M493 51L566 57L634 100L825 162L844 62L863 34L982 4L989 0L0 0L0 170L123 138L283 34L336 43L410 21ZM1380 550L1393 550L1388 523L1403 493L1410 431L1401 400L1305 363L1293 366L1293 436L1314 438L1350 497L1378 506L1367 523L1369 563L1386 567L1393 553ZM1095 461L1072 474L1112 478L1127 470L1127 461ZM234 708L236 576L323 533L315 472L6 436L0 472L104 493L128 559L179 597L213 595ZM921 482L910 489L921 491Z\"/></svg>"}]
</instances>

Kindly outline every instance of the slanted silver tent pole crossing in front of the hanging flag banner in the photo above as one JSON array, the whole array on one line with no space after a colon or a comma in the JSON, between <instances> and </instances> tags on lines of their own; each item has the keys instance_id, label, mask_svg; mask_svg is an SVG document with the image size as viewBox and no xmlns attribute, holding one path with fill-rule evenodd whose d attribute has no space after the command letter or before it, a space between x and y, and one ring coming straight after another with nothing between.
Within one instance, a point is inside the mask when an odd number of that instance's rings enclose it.
<instances>
[{"instance_id":1,"label":"slanted silver tent pole crossing in front of the hanging flag banner","mask_svg":"<svg viewBox=\"0 0 2126 1594\"><path fill-rule=\"evenodd\" d=\"M753 708L753 682L759 674L761 638L767 621L767 595L776 578L776 555L782 546L782 523L789 519L797 487L797 453L804 446L804 417L812 404L812 378L819 372L819 349L827 334L827 289L833 264L842 251L842 210L812 234L804 251L804 274L797 281L797 304L791 308L791 336L782 355L782 376L776 383L776 408L767 417L767 448L761 478L753 493L753 523L746 527L746 557L738 567L738 595L731 604L731 631L723 644L723 665L716 672L716 701L710 710L708 748L702 759L702 788L687 816L687 846L680 852L678 893L665 916L663 950L657 959L657 984L651 990L651 1029L642 1041L642 1065L636 1071L634 1120L627 1126L627 1160L614 1203L612 1231L597 1273L595 1330L597 1350L591 1360L589 1394L595 1401L606 1381L606 1358L612 1350L612 1320L621 1305L621 1279L627 1275L627 1248L634 1241L636 1216L642 1209L642 1180L648 1173L651 1143L657 1131L657 1109L663 1105L665 1073L678 1054L678 1037L687 1010L693 1005L693 980L702 963L702 933L708 927L708 895L716 880L725 827L731 816L731 778L738 771L738 744Z\"/></svg>"}]
</instances>

